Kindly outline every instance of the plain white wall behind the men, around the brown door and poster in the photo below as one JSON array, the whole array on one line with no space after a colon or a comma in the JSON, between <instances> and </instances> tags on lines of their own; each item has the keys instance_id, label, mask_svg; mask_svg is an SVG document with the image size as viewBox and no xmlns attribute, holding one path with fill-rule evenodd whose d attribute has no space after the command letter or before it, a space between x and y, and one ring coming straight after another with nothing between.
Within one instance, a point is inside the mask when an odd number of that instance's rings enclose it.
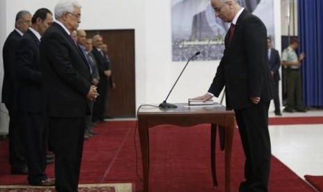
<instances>
[{"instance_id":1,"label":"plain white wall behind the men, around the brown door and poster","mask_svg":"<svg viewBox=\"0 0 323 192\"><path fill-rule=\"evenodd\" d=\"M281 2L273 1L274 13L277 13L275 14L276 38L279 39ZM0 32L1 49L6 36L13 30L15 15L19 10L29 10L33 14L38 8L45 7L53 11L56 2L52 0L1 1L1 10L4 10L0 14L4 17L0 18L5 18L4 22L1 22L4 27ZM79 0L79 2L83 6L80 29L135 29L136 106L163 102L186 63L172 62L171 1ZM3 31L6 33L4 34ZM280 50L280 42L276 42L276 48ZM188 98L206 93L218 64L219 61L191 61L167 102L187 102ZM0 79L2 77L1 74ZM220 99L215 98L215 101L219 102ZM1 113L0 122L8 122L6 115ZM0 131L1 129L6 128L1 125Z\"/></svg>"}]
</instances>

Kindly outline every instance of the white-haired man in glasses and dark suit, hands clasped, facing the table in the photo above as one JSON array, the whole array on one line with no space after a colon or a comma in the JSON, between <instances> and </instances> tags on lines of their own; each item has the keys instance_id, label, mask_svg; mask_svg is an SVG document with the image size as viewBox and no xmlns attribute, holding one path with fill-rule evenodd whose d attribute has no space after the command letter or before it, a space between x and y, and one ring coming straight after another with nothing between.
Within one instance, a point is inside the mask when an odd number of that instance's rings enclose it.
<instances>
[{"instance_id":1,"label":"white-haired man in glasses and dark suit, hands clasped, facing the table","mask_svg":"<svg viewBox=\"0 0 323 192\"><path fill-rule=\"evenodd\" d=\"M90 69L74 39L81 23L77 1L59 1L40 42L42 85L49 143L55 154L56 191L78 191L88 100L97 97Z\"/></svg>"}]
</instances>

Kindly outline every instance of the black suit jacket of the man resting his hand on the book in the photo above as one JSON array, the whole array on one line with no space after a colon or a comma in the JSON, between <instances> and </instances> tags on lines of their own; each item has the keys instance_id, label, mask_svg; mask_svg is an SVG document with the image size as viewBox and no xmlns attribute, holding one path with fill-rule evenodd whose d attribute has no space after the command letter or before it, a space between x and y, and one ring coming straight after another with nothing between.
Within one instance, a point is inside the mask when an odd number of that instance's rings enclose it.
<instances>
[{"instance_id":1,"label":"black suit jacket of the man resting his hand on the book","mask_svg":"<svg viewBox=\"0 0 323 192\"><path fill-rule=\"evenodd\" d=\"M224 40L224 55L208 92L218 97L225 86L226 106L232 109L254 106L250 97L260 97L260 102L270 101L273 85L267 63L265 25L258 17L243 10L235 24L230 45L229 31Z\"/></svg>"}]
</instances>

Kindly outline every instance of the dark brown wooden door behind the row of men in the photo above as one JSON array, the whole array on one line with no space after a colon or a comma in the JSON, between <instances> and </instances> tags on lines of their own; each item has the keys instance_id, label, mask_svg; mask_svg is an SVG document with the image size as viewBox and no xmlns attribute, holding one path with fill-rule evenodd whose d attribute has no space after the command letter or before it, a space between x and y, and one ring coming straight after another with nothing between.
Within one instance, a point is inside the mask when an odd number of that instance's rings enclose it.
<instances>
[{"instance_id":1,"label":"dark brown wooden door behind the row of men","mask_svg":"<svg viewBox=\"0 0 323 192\"><path fill-rule=\"evenodd\" d=\"M106 118L135 118L135 30L88 30L88 38L101 35L108 45L108 56L115 88L106 97ZM110 85L108 85L110 86Z\"/></svg>"}]
</instances>

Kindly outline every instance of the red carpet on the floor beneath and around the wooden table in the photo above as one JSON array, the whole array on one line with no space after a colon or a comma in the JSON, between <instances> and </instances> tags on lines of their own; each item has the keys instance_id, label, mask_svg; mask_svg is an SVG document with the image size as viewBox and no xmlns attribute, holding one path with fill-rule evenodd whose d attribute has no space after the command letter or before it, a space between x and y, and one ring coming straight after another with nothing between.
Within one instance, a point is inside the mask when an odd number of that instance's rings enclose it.
<instances>
[{"instance_id":1,"label":"red carpet on the floor beneath and around the wooden table","mask_svg":"<svg viewBox=\"0 0 323 192\"><path fill-rule=\"evenodd\" d=\"M142 191L136 176L134 121L105 122L95 128L97 136L85 141L81 167L81 184L132 183L133 191ZM142 177L140 146L138 174ZM158 126L150 129L149 189L154 191L214 191L210 173L210 127ZM217 142L218 145L218 142ZM224 152L217 146L219 189L224 191ZM238 130L233 140L231 190L238 191L243 180L244 155ZM53 177L53 165L47 167ZM10 175L8 141L0 143L0 184L26 184L26 176ZM288 167L272 157L269 191L313 191Z\"/></svg>"}]
</instances>

